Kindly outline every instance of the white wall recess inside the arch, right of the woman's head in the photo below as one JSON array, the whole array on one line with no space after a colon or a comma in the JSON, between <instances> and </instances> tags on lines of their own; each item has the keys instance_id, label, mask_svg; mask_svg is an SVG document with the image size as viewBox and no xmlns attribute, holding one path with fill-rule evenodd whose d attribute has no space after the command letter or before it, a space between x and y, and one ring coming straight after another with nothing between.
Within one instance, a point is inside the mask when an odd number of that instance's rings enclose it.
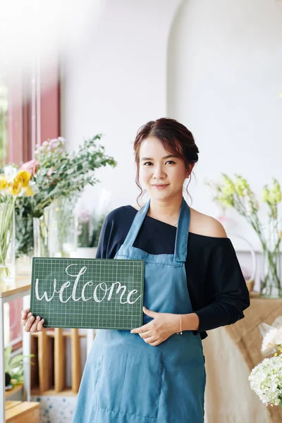
<instances>
[{"instance_id":1,"label":"white wall recess inside the arch, right of the woman's head","mask_svg":"<svg viewBox=\"0 0 282 423\"><path fill-rule=\"evenodd\" d=\"M221 172L245 176L259 200L272 177L282 183L281 22L282 3L274 0L190 0L178 10L168 45L168 116L192 130L200 149L190 185L200 212L219 214L204 179ZM228 216L259 250L245 220Z\"/></svg>"}]
</instances>

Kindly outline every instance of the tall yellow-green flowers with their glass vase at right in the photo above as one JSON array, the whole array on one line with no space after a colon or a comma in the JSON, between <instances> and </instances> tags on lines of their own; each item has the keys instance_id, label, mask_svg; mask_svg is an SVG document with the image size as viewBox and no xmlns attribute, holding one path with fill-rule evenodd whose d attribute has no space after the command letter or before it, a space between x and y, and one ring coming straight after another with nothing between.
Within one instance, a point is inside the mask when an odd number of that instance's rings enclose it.
<instances>
[{"instance_id":1,"label":"tall yellow-green flowers with their glass vase at right","mask_svg":"<svg viewBox=\"0 0 282 423\"><path fill-rule=\"evenodd\" d=\"M268 228L259 219L259 202L243 176L235 175L231 179L222 174L221 183L209 183L215 188L214 200L223 207L233 207L257 233L264 254L264 276L261 286L261 295L266 297L279 297L282 295L281 275L281 219L278 218L278 204L282 201L281 186L278 180L272 179L270 185L262 188L262 202L269 210Z\"/></svg>"}]
</instances>

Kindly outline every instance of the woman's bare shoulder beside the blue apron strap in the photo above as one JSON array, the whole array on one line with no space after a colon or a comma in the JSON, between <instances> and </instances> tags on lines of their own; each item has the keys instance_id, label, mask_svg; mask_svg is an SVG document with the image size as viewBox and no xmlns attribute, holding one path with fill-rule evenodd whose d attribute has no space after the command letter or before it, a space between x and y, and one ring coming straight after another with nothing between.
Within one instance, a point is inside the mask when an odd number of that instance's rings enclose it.
<instances>
[{"instance_id":1,"label":"woman's bare shoulder beside the blue apron strap","mask_svg":"<svg viewBox=\"0 0 282 423\"><path fill-rule=\"evenodd\" d=\"M190 232L214 238L227 238L225 229L214 217L200 213L192 207L190 207L190 212Z\"/></svg>"}]
</instances>

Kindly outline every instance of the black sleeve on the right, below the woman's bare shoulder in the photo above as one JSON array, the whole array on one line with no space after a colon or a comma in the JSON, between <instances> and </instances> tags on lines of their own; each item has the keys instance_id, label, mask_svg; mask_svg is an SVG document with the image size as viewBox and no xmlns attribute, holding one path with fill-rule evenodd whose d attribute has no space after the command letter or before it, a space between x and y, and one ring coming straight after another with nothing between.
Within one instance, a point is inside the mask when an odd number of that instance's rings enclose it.
<instances>
[{"instance_id":1,"label":"black sleeve on the right, below the woman's bare shoulder","mask_svg":"<svg viewBox=\"0 0 282 423\"><path fill-rule=\"evenodd\" d=\"M243 310L250 306L249 291L231 241L212 248L205 291L207 305L196 312L198 333L243 319Z\"/></svg>"}]
</instances>

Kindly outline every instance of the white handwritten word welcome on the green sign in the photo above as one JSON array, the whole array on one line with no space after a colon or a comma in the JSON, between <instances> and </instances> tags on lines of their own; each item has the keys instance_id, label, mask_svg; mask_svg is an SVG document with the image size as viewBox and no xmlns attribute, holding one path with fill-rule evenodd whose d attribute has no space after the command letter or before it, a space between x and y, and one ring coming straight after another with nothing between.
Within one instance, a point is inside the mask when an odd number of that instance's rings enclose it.
<instances>
[{"instance_id":1,"label":"white handwritten word welcome on the green sign","mask_svg":"<svg viewBox=\"0 0 282 423\"><path fill-rule=\"evenodd\" d=\"M81 288L81 292L78 294L80 296L76 296L77 295L77 290L78 290L78 283L80 281L80 276L82 276L83 274L85 274L85 271L87 271L87 266L82 266L82 268L80 269L80 271L78 272L78 274L71 274L70 271L72 271L71 266L78 266L78 264L70 264L69 266L66 267L66 274L68 276L73 276L75 277L75 281L73 284L73 290L71 295L64 299L63 298L63 291L66 288L69 288L71 286L71 281L66 281L65 283L63 283L63 285L61 286L61 288L59 288L59 290L57 290L57 281L56 278L54 278L54 290L53 293L50 297L48 297L48 294L46 291L44 291L44 294L40 297L39 295L39 280L38 278L35 281L35 296L37 298L37 300L42 301L42 300L46 300L47 302L53 300L54 296L56 294L59 294L59 300L61 302L68 302L70 300L73 301L89 301L89 300L94 300L95 302L102 302L104 300L107 301L111 301L114 290L116 289L116 294L119 295L119 302L121 304L134 304L135 302L137 302L137 300L139 300L139 298L141 297L141 295L139 295L139 297L135 298L135 300L130 300L130 297L132 295L135 295L138 291L136 289L130 290L128 291L128 288L125 285L121 285L120 282L116 281L110 284L110 286L108 286L109 283L106 282L100 282L98 283L97 286L95 286L93 293L91 295L91 297L86 298L85 297L85 289L87 288L87 286L92 287L94 285L93 281L87 281ZM128 291L128 292L127 292ZM125 298L123 298L125 297Z\"/></svg>"}]
</instances>

